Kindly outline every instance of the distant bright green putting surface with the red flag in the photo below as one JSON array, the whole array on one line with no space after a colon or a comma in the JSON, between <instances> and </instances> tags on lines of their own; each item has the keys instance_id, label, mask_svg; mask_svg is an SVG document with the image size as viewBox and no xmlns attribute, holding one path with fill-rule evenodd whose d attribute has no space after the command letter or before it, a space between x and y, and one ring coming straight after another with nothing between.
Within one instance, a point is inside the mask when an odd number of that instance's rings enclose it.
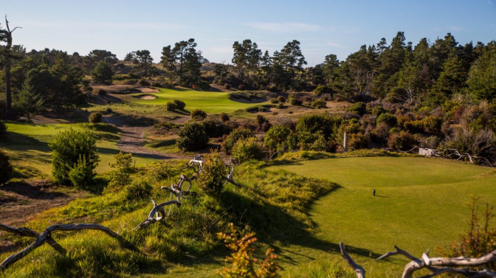
<instances>
[{"instance_id":1,"label":"distant bright green putting surface with the red flag","mask_svg":"<svg viewBox=\"0 0 496 278\"><path fill-rule=\"evenodd\" d=\"M164 89L159 88L160 92L152 92L155 99L141 99L136 96L142 94L132 94L129 101L144 105L165 105L166 103L179 99L186 103L186 110L192 111L200 109L207 113L229 113L239 109L246 109L256 106L257 104L240 103L229 99L229 93L226 92L204 92L189 89Z\"/></svg>"}]
</instances>

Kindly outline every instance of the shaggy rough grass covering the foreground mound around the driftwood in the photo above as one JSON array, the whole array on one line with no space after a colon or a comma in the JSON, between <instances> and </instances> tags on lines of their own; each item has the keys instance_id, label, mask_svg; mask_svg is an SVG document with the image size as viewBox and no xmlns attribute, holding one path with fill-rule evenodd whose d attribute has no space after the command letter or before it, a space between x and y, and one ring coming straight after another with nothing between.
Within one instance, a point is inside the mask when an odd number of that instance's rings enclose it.
<instances>
[{"instance_id":1,"label":"shaggy rough grass covering the foreground mound around the driftwood","mask_svg":"<svg viewBox=\"0 0 496 278\"><path fill-rule=\"evenodd\" d=\"M177 167L181 165L178 162L153 164L134 179L155 181L151 196L164 201L169 194L159 188L177 178ZM161 174L157 174L159 172ZM228 222L257 232L259 238L270 245L283 248L300 244L302 239L312 237L315 228L309 206L315 198L336 187L330 182L288 172L269 172L256 163L239 166L235 179L243 184L241 188L229 185L216 197L193 188L199 193L197 197L184 200L181 208L168 207L166 219L145 230L132 229L146 218L151 204L148 198L130 200L126 188L117 193L75 200L65 207L41 213L27 226L41 230L43 225L60 221L103 221L104 225L119 231L124 241L119 243L99 232L57 233L54 236L69 250L68 257L42 246L0 276L214 277L215 269L222 263L220 258L225 255L215 234L226 229ZM314 243L320 244L319 241ZM6 256L1 255L0 260Z\"/></svg>"}]
</instances>

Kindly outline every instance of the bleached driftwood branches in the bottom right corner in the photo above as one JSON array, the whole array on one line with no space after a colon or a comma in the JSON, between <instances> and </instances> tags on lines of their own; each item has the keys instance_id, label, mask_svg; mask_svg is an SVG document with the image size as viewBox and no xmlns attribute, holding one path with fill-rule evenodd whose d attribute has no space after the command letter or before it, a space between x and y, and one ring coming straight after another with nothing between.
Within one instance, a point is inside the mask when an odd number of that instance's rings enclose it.
<instances>
[{"instance_id":1,"label":"bleached driftwood branches in the bottom right corner","mask_svg":"<svg viewBox=\"0 0 496 278\"><path fill-rule=\"evenodd\" d=\"M386 254L377 258L377 260L382 260L388 258L390 256L402 255L407 257L411 262L404 266L403 273L401 274L401 278L412 278L413 274L420 269L427 269L431 273L420 276L419 278L429 278L434 277L443 273L452 273L452 274L460 274L469 278L494 278L496 277L496 272L491 271L489 269L470 269L467 267L479 267L488 263L492 263L496 261L496 249L488 254L481 256L479 258L466 258L466 257L457 257L457 258L430 258L429 250L422 254L421 258L416 258L411 255L409 252L400 249L396 245L394 246L395 251L387 252ZM353 261L353 259L348 255L346 251L345 245L343 242L340 242L340 250L343 255L344 260L350 265L351 268L356 273L358 278L365 278L365 270L362 266L358 265Z\"/></svg>"}]
</instances>

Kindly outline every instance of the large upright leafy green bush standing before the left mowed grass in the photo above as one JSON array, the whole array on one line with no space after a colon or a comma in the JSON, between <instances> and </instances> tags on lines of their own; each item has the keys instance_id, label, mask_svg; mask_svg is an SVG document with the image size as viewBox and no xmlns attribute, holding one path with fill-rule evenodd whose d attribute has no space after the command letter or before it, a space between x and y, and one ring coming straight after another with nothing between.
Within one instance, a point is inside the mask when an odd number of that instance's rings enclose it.
<instances>
[{"instance_id":1,"label":"large upright leafy green bush standing before the left mowed grass","mask_svg":"<svg viewBox=\"0 0 496 278\"><path fill-rule=\"evenodd\" d=\"M49 146L52 149L52 175L57 182L72 182L69 173L76 167L78 169L73 171L73 179L78 176L83 176L84 179L91 176L93 179L93 170L99 160L93 132L72 129L63 131L57 134L55 141Z\"/></svg>"}]
</instances>

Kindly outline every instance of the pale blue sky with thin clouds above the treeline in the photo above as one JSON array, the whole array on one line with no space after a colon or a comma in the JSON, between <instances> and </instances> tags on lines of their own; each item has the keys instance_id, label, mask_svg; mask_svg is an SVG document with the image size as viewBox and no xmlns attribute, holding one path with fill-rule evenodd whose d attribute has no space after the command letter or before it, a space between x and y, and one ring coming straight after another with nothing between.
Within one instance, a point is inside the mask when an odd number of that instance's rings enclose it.
<instances>
[{"instance_id":1,"label":"pale blue sky with thin clouds above the treeline","mask_svg":"<svg viewBox=\"0 0 496 278\"><path fill-rule=\"evenodd\" d=\"M382 37L390 42L397 31L414 44L447 32L460 43L496 39L496 0L0 0L0 14L8 15L11 27L22 27L14 43L28 50L87 55L106 49L122 59L148 49L156 62L163 46L189 38L207 59L226 63L236 40L251 39L272 54L297 39L309 66L328 54L344 60Z\"/></svg>"}]
</instances>

